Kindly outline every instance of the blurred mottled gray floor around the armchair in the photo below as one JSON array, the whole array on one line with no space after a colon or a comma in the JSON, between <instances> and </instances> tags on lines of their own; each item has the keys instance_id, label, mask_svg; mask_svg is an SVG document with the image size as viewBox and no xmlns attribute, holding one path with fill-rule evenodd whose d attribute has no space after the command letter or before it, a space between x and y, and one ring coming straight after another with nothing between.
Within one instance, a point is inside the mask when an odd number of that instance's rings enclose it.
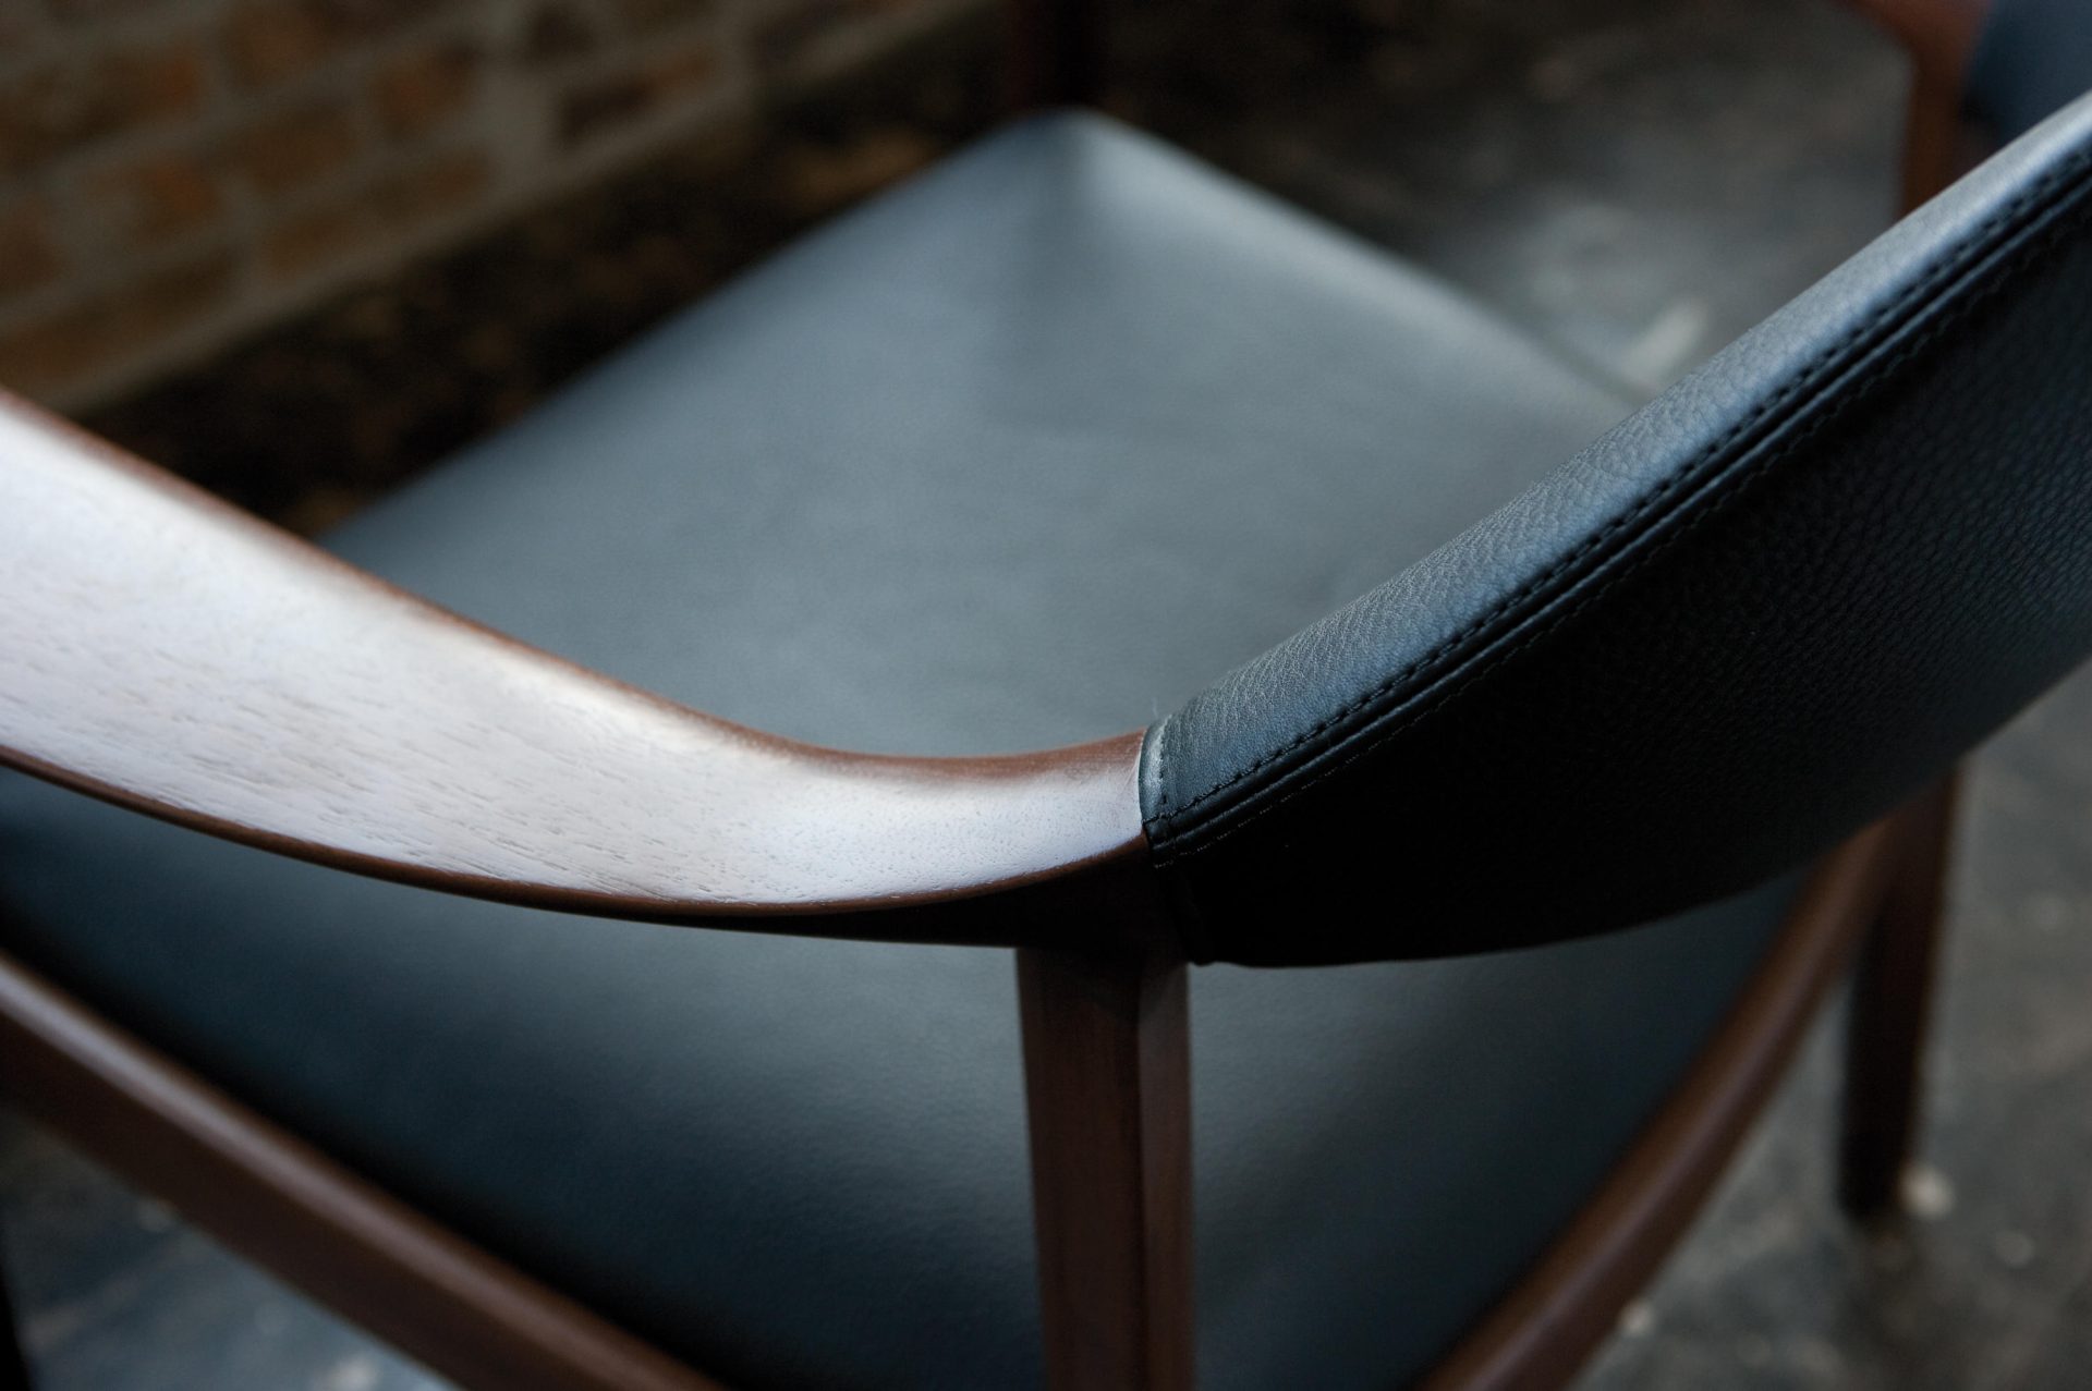
<instances>
[{"instance_id":1,"label":"blurred mottled gray floor around the armchair","mask_svg":"<svg viewBox=\"0 0 2092 1391\"><path fill-rule=\"evenodd\" d=\"M1902 69L1822 0L1157 4L1115 107L1648 389L1889 218ZM2092 1366L2092 676L1977 759L1929 1167L1828 1199L1828 1025L1590 1391L2061 1389ZM46 1391L435 1387L36 1132L4 1247Z\"/></svg>"}]
</instances>

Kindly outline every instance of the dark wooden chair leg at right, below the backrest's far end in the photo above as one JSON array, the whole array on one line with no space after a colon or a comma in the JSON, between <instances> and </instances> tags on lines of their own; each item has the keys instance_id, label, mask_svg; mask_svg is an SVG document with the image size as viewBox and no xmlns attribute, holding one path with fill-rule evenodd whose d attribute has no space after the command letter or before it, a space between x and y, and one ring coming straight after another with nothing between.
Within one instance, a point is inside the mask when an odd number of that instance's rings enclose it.
<instances>
[{"instance_id":1,"label":"dark wooden chair leg at right, below the backrest's far end","mask_svg":"<svg viewBox=\"0 0 2092 1391\"><path fill-rule=\"evenodd\" d=\"M1854 966L1845 1017L1839 1203L1862 1219L1897 1211L1918 1127L1954 793L1954 778L1948 776L1897 816L1902 864Z\"/></svg>"}]
</instances>

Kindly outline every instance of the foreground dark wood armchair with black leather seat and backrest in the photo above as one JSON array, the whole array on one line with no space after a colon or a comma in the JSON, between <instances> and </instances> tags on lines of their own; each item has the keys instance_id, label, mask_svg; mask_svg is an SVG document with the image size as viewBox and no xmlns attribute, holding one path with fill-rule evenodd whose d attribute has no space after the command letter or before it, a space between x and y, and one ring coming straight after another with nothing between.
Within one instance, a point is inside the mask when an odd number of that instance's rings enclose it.
<instances>
[{"instance_id":1,"label":"foreground dark wood armchair with black leather seat and backrest","mask_svg":"<svg viewBox=\"0 0 2092 1391\"><path fill-rule=\"evenodd\" d=\"M324 550L8 402L0 1090L483 1389L1559 1387L1847 966L1887 1213L2092 15L1870 8L2010 144L1646 404L1075 113Z\"/></svg>"}]
</instances>

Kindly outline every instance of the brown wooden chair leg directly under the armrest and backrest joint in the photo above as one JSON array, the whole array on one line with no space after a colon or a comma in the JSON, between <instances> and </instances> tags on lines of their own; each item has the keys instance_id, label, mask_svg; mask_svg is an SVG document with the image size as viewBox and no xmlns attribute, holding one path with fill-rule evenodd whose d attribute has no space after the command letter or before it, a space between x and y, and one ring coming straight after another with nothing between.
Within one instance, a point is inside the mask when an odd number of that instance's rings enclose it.
<instances>
[{"instance_id":1,"label":"brown wooden chair leg directly under the armrest and backrest joint","mask_svg":"<svg viewBox=\"0 0 2092 1391\"><path fill-rule=\"evenodd\" d=\"M1184 960L1017 954L1046 1385L1190 1391Z\"/></svg>"}]
</instances>

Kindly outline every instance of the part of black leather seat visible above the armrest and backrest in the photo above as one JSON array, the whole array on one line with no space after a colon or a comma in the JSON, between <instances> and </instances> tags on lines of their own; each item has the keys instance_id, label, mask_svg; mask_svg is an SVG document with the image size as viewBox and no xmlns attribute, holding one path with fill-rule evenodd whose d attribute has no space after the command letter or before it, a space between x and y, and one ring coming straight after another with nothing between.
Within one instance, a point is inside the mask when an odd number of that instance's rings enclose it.
<instances>
[{"instance_id":1,"label":"part of black leather seat visible above the armrest and backrest","mask_svg":"<svg viewBox=\"0 0 2092 1391\"><path fill-rule=\"evenodd\" d=\"M1061 117L711 295L337 548L391 575L412 538L408 588L761 730L1023 751L1146 726L1628 410L1372 247Z\"/></svg>"}]
</instances>

